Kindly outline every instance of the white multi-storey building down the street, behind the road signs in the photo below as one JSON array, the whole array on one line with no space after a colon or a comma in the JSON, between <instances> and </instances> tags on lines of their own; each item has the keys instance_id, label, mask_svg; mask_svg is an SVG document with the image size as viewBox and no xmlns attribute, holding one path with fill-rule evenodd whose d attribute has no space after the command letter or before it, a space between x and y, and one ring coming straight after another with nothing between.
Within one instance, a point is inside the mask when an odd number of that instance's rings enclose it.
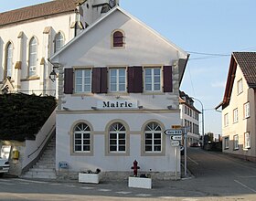
<instances>
[{"instance_id":1,"label":"white multi-storey building down the street, behind the road signs","mask_svg":"<svg viewBox=\"0 0 256 201\"><path fill-rule=\"evenodd\" d=\"M189 97L184 91L179 91L179 109L181 125L189 127L187 132L187 146L193 143L199 143L199 113L194 106L194 100Z\"/></svg>"}]
</instances>

